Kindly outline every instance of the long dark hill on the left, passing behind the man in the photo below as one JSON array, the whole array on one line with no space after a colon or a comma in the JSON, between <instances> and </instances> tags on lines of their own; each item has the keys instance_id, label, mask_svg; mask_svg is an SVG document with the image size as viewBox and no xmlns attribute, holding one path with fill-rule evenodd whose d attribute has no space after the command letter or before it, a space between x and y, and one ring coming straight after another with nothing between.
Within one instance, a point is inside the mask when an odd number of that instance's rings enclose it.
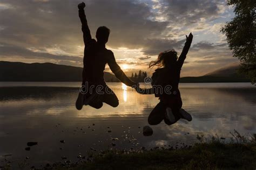
<instances>
[{"instance_id":1,"label":"long dark hill on the left, passing behind the man","mask_svg":"<svg viewBox=\"0 0 256 170\"><path fill-rule=\"evenodd\" d=\"M0 81L82 81L83 68L53 63L23 63L0 61ZM104 72L105 81L118 81Z\"/></svg>"}]
</instances>

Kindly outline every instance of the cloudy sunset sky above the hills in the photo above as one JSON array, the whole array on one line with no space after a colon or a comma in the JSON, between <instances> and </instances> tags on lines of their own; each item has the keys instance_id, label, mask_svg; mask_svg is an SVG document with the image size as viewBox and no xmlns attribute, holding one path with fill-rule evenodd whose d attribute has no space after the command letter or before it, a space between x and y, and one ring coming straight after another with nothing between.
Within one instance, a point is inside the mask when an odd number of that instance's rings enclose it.
<instances>
[{"instance_id":1,"label":"cloudy sunset sky above the hills","mask_svg":"<svg viewBox=\"0 0 256 170\"><path fill-rule=\"evenodd\" d=\"M83 37L77 0L0 0L0 60L83 66ZM185 34L194 39L181 76L200 76L237 59L220 27L234 17L226 1L86 0L95 38L98 26L111 30L107 48L120 67L148 69L161 51L181 52ZM109 68L106 68L109 71Z\"/></svg>"}]
</instances>

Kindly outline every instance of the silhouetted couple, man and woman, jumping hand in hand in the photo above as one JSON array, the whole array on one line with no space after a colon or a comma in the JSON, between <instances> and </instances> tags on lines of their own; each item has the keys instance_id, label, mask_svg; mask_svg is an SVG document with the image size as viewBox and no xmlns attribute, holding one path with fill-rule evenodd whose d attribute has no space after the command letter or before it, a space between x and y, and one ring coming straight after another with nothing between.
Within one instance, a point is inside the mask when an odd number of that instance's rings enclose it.
<instances>
[{"instance_id":1,"label":"silhouetted couple, man and woman, jumping hand in hand","mask_svg":"<svg viewBox=\"0 0 256 170\"><path fill-rule=\"evenodd\" d=\"M191 121L191 115L181 108L182 101L178 84L180 70L183 66L188 49L190 48L193 35L190 33L188 37L186 36L186 43L179 58L177 52L172 49L171 51L161 52L157 60L150 63L149 67L159 67L156 69L156 72L153 73L152 88L140 89L139 83L131 81L124 74L123 70L120 69L114 59L113 52L106 49L105 44L109 39L110 30L105 26L100 26L96 32L97 41L92 39L84 8L85 3L78 5L85 44L82 87L92 90L88 92L88 90L81 88L76 101L76 108L81 110L83 105L90 105L93 108L99 109L102 107L103 102L112 107L118 106L119 102L117 96L104 81L104 69L107 63L114 75L127 86L135 88L140 94L154 94L156 97L159 97L160 102L149 115L149 124L157 125L164 120L166 124L171 125L176 123L180 118ZM99 88L97 88L97 86L101 87L100 93L98 93ZM171 90L165 91L166 86L172 87ZM161 87L162 89L159 90L159 88L154 87ZM87 91L87 93L83 93L83 91Z\"/></svg>"}]
</instances>

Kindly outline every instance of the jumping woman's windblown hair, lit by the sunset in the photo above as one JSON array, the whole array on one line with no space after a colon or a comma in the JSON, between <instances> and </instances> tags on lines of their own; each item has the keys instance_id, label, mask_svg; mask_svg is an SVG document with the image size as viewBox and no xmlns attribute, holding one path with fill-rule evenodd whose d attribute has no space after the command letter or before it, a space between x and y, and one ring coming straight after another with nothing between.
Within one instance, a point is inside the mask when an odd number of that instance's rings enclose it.
<instances>
[{"instance_id":1,"label":"jumping woman's windblown hair, lit by the sunset","mask_svg":"<svg viewBox=\"0 0 256 170\"><path fill-rule=\"evenodd\" d=\"M149 68L154 67L154 66L157 66L158 68L165 67L168 64L167 62L170 61L170 59L177 60L177 52L174 49L161 52L158 55L157 60L150 62Z\"/></svg>"}]
</instances>

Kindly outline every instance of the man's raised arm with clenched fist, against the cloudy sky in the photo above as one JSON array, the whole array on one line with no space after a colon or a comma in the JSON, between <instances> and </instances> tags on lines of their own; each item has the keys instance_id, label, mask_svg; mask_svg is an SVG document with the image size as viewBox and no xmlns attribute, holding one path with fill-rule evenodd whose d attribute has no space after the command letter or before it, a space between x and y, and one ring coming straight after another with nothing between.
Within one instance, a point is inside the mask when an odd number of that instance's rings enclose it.
<instances>
[{"instance_id":1,"label":"man's raised arm with clenched fist, against the cloudy sky","mask_svg":"<svg viewBox=\"0 0 256 170\"><path fill-rule=\"evenodd\" d=\"M86 16L84 13L84 8L85 8L85 3L80 3L78 4L78 9L79 9L79 18L80 21L82 23L82 31L83 31L83 37L84 37L84 44L86 45L86 43L92 39L91 37L91 32L89 29L89 26L87 24L87 20L86 20Z\"/></svg>"}]
</instances>

